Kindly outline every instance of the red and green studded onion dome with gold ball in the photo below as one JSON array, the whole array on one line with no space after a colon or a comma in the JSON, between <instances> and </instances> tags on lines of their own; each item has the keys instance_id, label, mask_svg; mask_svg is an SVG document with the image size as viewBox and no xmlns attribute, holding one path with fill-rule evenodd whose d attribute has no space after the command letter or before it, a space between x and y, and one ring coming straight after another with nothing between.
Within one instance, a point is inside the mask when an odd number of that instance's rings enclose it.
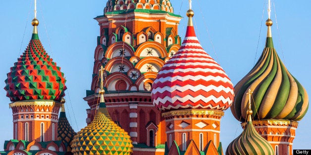
<instances>
[{"instance_id":1,"label":"red and green studded onion dome with gold ball","mask_svg":"<svg viewBox=\"0 0 311 155\"><path fill-rule=\"evenodd\" d=\"M35 18L32 21L32 38L7 74L4 89L12 102L38 99L60 101L65 96L64 74L43 48L37 33L38 24Z\"/></svg>"}]
</instances>

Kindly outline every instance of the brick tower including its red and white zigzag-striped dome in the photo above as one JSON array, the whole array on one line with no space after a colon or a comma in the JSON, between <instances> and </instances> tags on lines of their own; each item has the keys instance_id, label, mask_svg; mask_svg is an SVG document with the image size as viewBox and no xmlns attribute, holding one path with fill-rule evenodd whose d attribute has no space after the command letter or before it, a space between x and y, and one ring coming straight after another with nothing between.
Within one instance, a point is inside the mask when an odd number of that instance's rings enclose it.
<instances>
[{"instance_id":1,"label":"brick tower including its red and white zigzag-striped dome","mask_svg":"<svg viewBox=\"0 0 311 155\"><path fill-rule=\"evenodd\" d=\"M165 118L167 155L218 155L220 119L233 101L233 85L197 39L191 7L187 16L185 39L158 73L152 100Z\"/></svg>"}]
</instances>

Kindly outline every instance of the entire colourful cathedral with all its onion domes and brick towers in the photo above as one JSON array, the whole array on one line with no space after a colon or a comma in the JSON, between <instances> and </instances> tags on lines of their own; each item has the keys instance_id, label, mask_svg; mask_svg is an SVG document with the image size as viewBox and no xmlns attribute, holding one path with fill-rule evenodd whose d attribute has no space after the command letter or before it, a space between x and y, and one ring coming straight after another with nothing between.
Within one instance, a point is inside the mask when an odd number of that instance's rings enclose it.
<instances>
[{"instance_id":1,"label":"entire colourful cathedral with all its onion domes and brick towers","mask_svg":"<svg viewBox=\"0 0 311 155\"><path fill-rule=\"evenodd\" d=\"M35 13L29 44L5 80L13 137L0 154L292 155L309 98L273 46L270 13L258 62L233 86L201 46L191 5L182 39L185 19L169 0L107 0L95 18L101 36L80 131L66 118L64 73L41 44ZM228 108L244 130L222 148Z\"/></svg>"}]
</instances>

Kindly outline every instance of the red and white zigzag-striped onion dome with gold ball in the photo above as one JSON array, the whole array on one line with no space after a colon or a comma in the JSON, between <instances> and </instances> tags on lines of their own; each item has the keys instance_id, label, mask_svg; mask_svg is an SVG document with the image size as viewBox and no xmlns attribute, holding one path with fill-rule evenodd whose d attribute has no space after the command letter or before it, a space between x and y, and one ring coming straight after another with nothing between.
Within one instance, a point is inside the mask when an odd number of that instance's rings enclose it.
<instances>
[{"instance_id":1,"label":"red and white zigzag-striped onion dome with gold ball","mask_svg":"<svg viewBox=\"0 0 311 155\"><path fill-rule=\"evenodd\" d=\"M233 102L233 85L223 69L207 54L189 17L185 39L153 83L152 100L159 110L226 110Z\"/></svg>"}]
</instances>

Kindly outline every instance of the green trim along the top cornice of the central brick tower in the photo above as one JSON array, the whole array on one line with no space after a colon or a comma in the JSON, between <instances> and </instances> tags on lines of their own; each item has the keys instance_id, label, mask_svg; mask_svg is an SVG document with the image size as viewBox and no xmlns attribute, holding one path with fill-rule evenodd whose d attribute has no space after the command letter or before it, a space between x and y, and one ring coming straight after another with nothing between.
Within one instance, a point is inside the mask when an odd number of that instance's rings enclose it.
<instances>
[{"instance_id":1,"label":"green trim along the top cornice of the central brick tower","mask_svg":"<svg viewBox=\"0 0 311 155\"><path fill-rule=\"evenodd\" d=\"M167 13L171 16L174 17L179 17L179 18L183 18L180 15L174 14L174 13L170 13L170 12L166 12L166 11L162 11L162 10L149 10L149 9L130 9L130 10L116 10L116 11L111 11L111 12L106 12L104 15L100 15L95 17L94 19L98 19L98 18L102 18L104 17L106 14L112 15L112 14L126 14L126 13L131 13L131 12L142 12L142 13Z\"/></svg>"}]
</instances>

